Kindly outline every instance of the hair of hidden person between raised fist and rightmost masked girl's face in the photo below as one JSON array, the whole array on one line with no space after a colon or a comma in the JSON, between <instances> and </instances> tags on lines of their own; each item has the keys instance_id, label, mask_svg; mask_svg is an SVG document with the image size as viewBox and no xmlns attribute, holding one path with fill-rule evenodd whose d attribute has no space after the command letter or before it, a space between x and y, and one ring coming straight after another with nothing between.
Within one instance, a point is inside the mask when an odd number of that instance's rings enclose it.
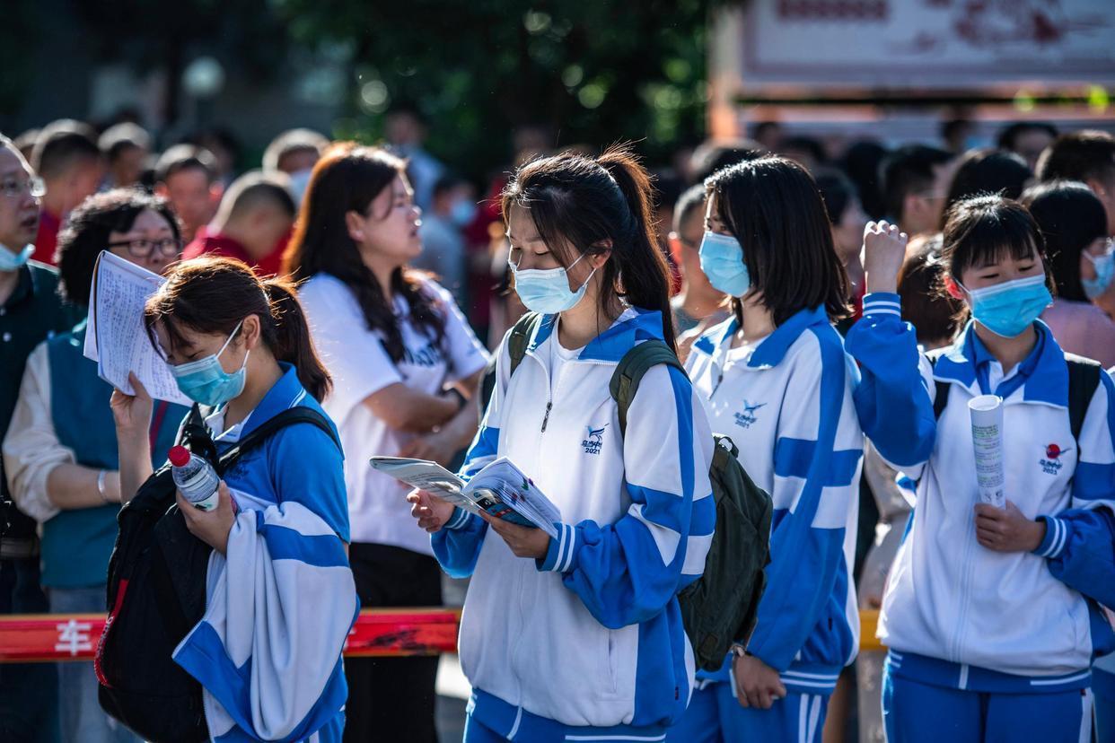
<instances>
[{"instance_id":1,"label":"hair of hidden person between raised fist and rightmost masked girl's face","mask_svg":"<svg viewBox=\"0 0 1115 743\"><path fill-rule=\"evenodd\" d=\"M963 302L941 291L941 236L914 237L899 272L902 319L913 325L918 342L951 341Z\"/></svg>"}]
</instances>

